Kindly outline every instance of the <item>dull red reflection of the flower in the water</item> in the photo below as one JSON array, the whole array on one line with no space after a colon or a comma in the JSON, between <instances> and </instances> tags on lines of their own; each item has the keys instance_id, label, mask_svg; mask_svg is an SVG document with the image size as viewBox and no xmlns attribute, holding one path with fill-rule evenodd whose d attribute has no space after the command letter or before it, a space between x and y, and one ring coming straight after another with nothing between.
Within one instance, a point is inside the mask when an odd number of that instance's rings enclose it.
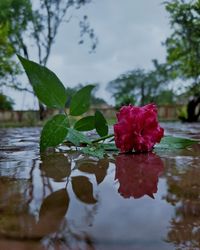
<instances>
[{"instance_id":1,"label":"dull red reflection of the flower in the water","mask_svg":"<svg viewBox=\"0 0 200 250\"><path fill-rule=\"evenodd\" d=\"M115 179L120 184L118 192L124 198L140 198L145 194L154 198L163 169L162 160L153 153L117 156Z\"/></svg>"}]
</instances>

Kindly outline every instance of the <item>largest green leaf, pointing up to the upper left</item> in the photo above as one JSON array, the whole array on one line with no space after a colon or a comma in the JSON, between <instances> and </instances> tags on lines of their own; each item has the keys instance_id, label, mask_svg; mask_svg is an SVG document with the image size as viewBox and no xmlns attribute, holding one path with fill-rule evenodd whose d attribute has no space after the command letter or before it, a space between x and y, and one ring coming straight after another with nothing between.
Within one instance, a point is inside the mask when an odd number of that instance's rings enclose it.
<instances>
[{"instance_id":1,"label":"largest green leaf, pointing up to the upper left","mask_svg":"<svg viewBox=\"0 0 200 250\"><path fill-rule=\"evenodd\" d=\"M38 99L50 108L64 108L66 89L49 69L18 55Z\"/></svg>"}]
</instances>

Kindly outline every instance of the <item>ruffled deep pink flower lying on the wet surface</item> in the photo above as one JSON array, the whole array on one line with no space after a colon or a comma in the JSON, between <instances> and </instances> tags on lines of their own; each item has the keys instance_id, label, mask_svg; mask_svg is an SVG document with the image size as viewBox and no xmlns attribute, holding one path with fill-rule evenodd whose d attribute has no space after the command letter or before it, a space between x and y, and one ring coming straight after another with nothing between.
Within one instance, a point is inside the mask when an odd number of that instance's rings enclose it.
<instances>
[{"instance_id":1,"label":"ruffled deep pink flower lying on the wet surface","mask_svg":"<svg viewBox=\"0 0 200 250\"><path fill-rule=\"evenodd\" d=\"M115 144L120 152L148 152L164 136L154 104L143 107L123 106L114 125Z\"/></svg>"}]
</instances>

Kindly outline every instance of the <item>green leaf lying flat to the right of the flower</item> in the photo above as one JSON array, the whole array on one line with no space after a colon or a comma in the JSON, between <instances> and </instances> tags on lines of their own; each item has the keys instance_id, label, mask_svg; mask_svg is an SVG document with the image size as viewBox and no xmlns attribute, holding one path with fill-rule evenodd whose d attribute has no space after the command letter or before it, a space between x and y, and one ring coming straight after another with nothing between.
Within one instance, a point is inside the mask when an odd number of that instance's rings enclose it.
<instances>
[{"instance_id":1,"label":"green leaf lying flat to the right of the flower","mask_svg":"<svg viewBox=\"0 0 200 250\"><path fill-rule=\"evenodd\" d=\"M160 144L156 144L156 149L182 149L189 147L199 141L181 137L165 136L162 138Z\"/></svg>"}]
</instances>

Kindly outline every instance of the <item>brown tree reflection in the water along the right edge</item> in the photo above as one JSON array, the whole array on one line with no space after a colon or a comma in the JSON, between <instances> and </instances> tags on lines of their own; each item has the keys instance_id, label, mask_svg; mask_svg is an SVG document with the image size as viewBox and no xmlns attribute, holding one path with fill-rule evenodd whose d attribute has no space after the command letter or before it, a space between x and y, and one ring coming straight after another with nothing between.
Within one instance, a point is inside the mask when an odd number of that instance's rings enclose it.
<instances>
[{"instance_id":1,"label":"brown tree reflection in the water along the right edge","mask_svg":"<svg viewBox=\"0 0 200 250\"><path fill-rule=\"evenodd\" d=\"M167 175L167 202L175 206L167 241L178 249L200 249L200 168L199 158L189 160L188 168L171 162ZM187 164L187 162L185 162Z\"/></svg>"}]
</instances>

